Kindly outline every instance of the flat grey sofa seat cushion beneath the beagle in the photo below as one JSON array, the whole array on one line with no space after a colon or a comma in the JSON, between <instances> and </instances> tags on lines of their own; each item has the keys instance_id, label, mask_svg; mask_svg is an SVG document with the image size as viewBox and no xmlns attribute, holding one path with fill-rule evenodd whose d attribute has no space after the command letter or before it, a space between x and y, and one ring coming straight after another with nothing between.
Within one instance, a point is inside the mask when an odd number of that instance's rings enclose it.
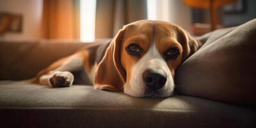
<instances>
[{"instance_id":1,"label":"flat grey sofa seat cushion beneath the beagle","mask_svg":"<svg viewBox=\"0 0 256 128\"><path fill-rule=\"evenodd\" d=\"M135 98L92 86L0 83L0 127L255 127L255 114L182 95Z\"/></svg>"}]
</instances>

